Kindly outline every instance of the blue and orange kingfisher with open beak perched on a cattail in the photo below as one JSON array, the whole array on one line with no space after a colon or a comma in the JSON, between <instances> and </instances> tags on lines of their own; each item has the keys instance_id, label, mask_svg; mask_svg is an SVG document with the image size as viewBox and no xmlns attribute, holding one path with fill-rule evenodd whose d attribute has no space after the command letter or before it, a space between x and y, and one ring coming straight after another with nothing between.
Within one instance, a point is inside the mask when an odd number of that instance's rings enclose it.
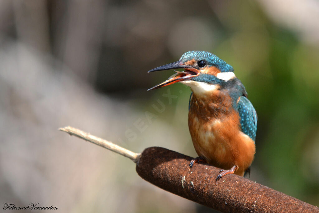
<instances>
[{"instance_id":1,"label":"blue and orange kingfisher with open beak perched on a cattail","mask_svg":"<svg viewBox=\"0 0 319 213\"><path fill-rule=\"evenodd\" d=\"M250 175L256 147L257 114L234 68L207 51L188 51L177 61L148 72L184 69L153 90L180 82L190 87L188 126L198 157L226 174Z\"/></svg>"}]
</instances>

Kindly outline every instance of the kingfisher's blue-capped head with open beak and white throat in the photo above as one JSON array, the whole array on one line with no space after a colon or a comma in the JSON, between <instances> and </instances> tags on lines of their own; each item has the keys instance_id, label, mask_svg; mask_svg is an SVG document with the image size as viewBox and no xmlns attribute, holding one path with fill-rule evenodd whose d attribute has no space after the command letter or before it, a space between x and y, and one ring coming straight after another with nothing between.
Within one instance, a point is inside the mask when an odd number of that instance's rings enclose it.
<instances>
[{"instance_id":1,"label":"kingfisher's blue-capped head with open beak and white throat","mask_svg":"<svg viewBox=\"0 0 319 213\"><path fill-rule=\"evenodd\" d=\"M235 78L231 65L206 51L189 51L182 55L177 62L159 66L148 72L171 69L185 69L176 73L168 80L148 89L157 89L181 82L191 87L194 93L205 93L223 86L227 81Z\"/></svg>"}]
</instances>

